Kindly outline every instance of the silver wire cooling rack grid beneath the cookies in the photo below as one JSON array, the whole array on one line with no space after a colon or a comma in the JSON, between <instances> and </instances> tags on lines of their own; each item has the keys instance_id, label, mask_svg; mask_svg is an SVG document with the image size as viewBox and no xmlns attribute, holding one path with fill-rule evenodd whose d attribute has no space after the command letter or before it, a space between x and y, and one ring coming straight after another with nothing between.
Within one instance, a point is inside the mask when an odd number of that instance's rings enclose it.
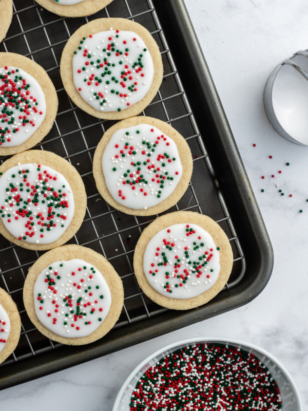
<instances>
[{"instance_id":1,"label":"silver wire cooling rack grid beneath the cookies","mask_svg":"<svg viewBox=\"0 0 308 411\"><path fill-rule=\"evenodd\" d=\"M88 18L68 19L56 16L38 6L34 0L13 1L13 21L0 51L24 54L41 64L57 90L59 112L50 133L35 148L53 151L66 158L80 172L87 190L87 213L71 244L87 246L101 252L120 274L125 291L124 307L115 327L145 320L167 311L151 302L140 290L132 268L134 245L142 232L157 216L136 217L121 214L101 198L92 177L92 157L105 130L114 122L93 118L76 107L61 82L61 52L71 33L82 24L98 17L125 17L144 25L159 44L164 80L156 98L143 115L160 118L172 124L185 137L194 156L194 173L183 198L170 211L192 210L214 218L227 233L234 251L234 268L225 289L235 287L245 273L245 259L215 172L206 153L189 102L181 84L172 55L160 26L152 0L114 0L101 12ZM3 157L0 161L5 161ZM198 194L197 194L198 192ZM14 298L22 317L21 340L2 366L41 354L60 346L45 338L31 324L22 301L27 270L41 252L24 250L0 238L0 287Z\"/></svg>"}]
</instances>

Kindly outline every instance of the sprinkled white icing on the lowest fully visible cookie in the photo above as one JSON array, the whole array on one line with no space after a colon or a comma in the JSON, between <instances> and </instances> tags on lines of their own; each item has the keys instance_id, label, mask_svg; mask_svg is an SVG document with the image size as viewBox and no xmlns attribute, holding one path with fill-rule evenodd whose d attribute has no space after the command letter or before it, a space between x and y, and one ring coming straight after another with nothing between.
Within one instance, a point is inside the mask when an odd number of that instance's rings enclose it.
<instances>
[{"instance_id":1,"label":"sprinkled white icing on the lowest fully visible cookie","mask_svg":"<svg viewBox=\"0 0 308 411\"><path fill-rule=\"evenodd\" d=\"M81 259L56 261L33 287L38 320L61 337L87 337L105 320L111 293L102 273Z\"/></svg>"}]
</instances>

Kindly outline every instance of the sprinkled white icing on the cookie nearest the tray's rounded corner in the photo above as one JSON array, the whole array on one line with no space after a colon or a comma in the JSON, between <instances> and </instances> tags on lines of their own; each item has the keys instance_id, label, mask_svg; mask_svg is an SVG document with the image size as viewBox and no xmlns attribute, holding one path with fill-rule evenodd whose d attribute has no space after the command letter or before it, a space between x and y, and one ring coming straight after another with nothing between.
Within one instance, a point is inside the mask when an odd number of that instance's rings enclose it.
<instances>
[{"instance_id":1,"label":"sprinkled white icing on the cookie nearest the tray's rounded corner","mask_svg":"<svg viewBox=\"0 0 308 411\"><path fill-rule=\"evenodd\" d=\"M218 250L202 227L175 224L150 239L143 256L143 270L150 285L166 297L196 297L217 281Z\"/></svg>"}]
</instances>

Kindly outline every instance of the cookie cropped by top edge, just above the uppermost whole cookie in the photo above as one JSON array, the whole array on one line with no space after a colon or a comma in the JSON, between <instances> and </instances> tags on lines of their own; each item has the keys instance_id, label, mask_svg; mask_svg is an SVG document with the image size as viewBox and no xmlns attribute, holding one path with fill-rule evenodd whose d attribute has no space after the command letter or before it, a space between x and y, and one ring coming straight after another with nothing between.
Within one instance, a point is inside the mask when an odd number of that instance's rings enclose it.
<instances>
[{"instance_id":1,"label":"cookie cropped by top edge, just above the uppermost whole cookie","mask_svg":"<svg viewBox=\"0 0 308 411\"><path fill-rule=\"evenodd\" d=\"M86 17L108 6L112 0L37 0L46 10L63 17Z\"/></svg>"}]
</instances>

